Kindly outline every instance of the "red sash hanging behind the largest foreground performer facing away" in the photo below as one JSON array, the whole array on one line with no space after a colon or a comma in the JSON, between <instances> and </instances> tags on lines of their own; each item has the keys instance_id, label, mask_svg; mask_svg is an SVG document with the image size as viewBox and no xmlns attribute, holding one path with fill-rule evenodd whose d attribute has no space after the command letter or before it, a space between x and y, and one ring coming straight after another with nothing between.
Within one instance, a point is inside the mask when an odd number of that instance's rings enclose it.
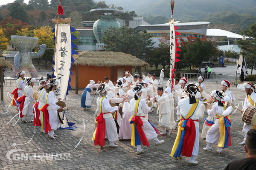
<instances>
[{"instance_id":1,"label":"red sash hanging behind the largest foreground performer facing away","mask_svg":"<svg viewBox=\"0 0 256 170\"><path fill-rule=\"evenodd\" d=\"M187 120L187 119L185 119ZM182 155L186 157L191 157L194 143L195 143L195 123L198 120L188 119L186 123L186 134L184 136Z\"/></svg>"}]
</instances>

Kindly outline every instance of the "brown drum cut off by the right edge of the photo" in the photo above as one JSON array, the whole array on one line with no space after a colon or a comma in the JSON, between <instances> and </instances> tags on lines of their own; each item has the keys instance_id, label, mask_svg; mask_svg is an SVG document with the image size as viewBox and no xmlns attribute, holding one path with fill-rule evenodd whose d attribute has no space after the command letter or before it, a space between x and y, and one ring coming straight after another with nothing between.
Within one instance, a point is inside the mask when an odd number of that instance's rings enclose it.
<instances>
[{"instance_id":1,"label":"brown drum cut off by the right edge of the photo","mask_svg":"<svg viewBox=\"0 0 256 170\"><path fill-rule=\"evenodd\" d=\"M256 125L256 108L248 107L244 110L242 115L242 121L247 125Z\"/></svg>"}]
</instances>

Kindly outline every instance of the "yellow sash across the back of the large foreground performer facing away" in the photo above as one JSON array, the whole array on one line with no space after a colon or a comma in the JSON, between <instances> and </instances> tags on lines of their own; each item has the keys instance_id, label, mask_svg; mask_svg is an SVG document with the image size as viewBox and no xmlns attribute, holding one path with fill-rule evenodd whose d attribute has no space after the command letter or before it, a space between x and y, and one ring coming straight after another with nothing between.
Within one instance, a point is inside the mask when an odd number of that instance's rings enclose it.
<instances>
[{"instance_id":1,"label":"yellow sash across the back of the large foreground performer facing away","mask_svg":"<svg viewBox=\"0 0 256 170\"><path fill-rule=\"evenodd\" d=\"M195 109L196 109L197 106L198 106L198 103L199 103L199 100L196 99L196 103L193 103L193 104L192 104L192 107L190 108L190 110L189 110L189 112L188 112L188 114L187 114L187 116L186 116L185 119L188 119L189 117L191 117L191 116L194 114ZM183 119L183 118L180 116L180 119ZM170 155L170 156L172 156L172 157L173 157L173 155L174 155L174 153L175 153L175 151L176 151L176 149L177 149L177 146L178 146L178 144L179 144L179 142L180 142L181 131L182 131L182 130L185 130L185 127L181 127L183 121L184 121L184 120L181 120L181 121L179 122L179 124L178 124L178 126L179 126L179 127L178 127L178 133L177 133L175 142L174 142L173 147L172 147L172 152L171 152L171 155Z\"/></svg>"}]
</instances>

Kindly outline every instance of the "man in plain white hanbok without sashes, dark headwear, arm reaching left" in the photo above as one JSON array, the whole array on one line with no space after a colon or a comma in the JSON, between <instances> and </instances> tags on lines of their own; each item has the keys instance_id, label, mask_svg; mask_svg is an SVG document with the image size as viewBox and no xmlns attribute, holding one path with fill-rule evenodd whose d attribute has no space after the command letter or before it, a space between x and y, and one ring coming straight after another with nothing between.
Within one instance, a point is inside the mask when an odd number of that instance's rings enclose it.
<instances>
[{"instance_id":1,"label":"man in plain white hanbok without sashes, dark headwear, arm reaching left","mask_svg":"<svg viewBox=\"0 0 256 170\"><path fill-rule=\"evenodd\" d=\"M162 133L161 135L170 136L172 133L171 126L171 109L169 103L169 96L163 92L163 87L157 88L157 96L148 100L153 101L153 103L157 102L157 114L159 113L159 122L158 125L161 127ZM166 132L168 130L168 133Z\"/></svg>"}]
</instances>

